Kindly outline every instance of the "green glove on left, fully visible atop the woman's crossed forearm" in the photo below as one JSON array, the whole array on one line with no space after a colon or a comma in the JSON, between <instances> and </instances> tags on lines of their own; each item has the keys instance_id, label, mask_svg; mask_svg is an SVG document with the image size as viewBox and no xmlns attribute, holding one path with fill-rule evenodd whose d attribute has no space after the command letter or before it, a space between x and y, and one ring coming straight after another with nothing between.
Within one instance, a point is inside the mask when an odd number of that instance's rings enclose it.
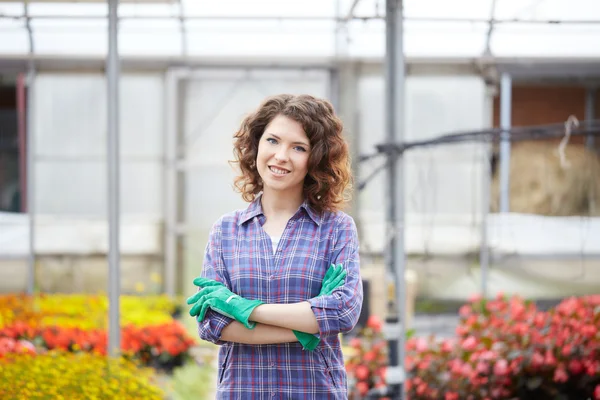
<instances>
[{"instance_id":1,"label":"green glove on left, fully visible atop the woman's crossed forearm","mask_svg":"<svg viewBox=\"0 0 600 400\"><path fill-rule=\"evenodd\" d=\"M254 329L256 323L248 319L252 311L263 302L247 300L227 289L225 285L214 282L216 281L207 278L194 279L194 284L203 289L187 299L187 304L194 304L189 311L190 315L201 321L208 308L211 308L221 315L239 321L248 329Z\"/></svg>"}]
</instances>

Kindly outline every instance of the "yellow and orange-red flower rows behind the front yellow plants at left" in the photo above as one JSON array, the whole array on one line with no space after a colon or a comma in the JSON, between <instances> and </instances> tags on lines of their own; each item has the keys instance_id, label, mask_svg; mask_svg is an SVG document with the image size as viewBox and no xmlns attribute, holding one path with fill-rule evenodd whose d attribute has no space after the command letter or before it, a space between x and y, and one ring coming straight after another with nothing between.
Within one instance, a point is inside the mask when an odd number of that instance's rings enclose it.
<instances>
[{"instance_id":1,"label":"yellow and orange-red flower rows behind the front yellow plants at left","mask_svg":"<svg viewBox=\"0 0 600 400\"><path fill-rule=\"evenodd\" d=\"M106 355L107 306L103 296L0 296L0 357L30 343L39 351L62 350ZM123 355L143 365L172 370L189 358L195 341L172 313L166 297L121 300Z\"/></svg>"}]
</instances>

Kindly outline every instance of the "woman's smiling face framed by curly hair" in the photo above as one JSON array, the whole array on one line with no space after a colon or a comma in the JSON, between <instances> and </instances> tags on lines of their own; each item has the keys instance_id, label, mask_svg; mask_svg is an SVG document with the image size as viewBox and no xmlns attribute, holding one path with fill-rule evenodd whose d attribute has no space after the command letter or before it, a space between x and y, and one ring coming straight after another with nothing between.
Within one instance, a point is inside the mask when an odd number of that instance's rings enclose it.
<instances>
[{"instance_id":1,"label":"woman's smiling face framed by curly hair","mask_svg":"<svg viewBox=\"0 0 600 400\"><path fill-rule=\"evenodd\" d=\"M263 189L301 193L309 155L310 142L302 125L283 115L273 118L260 138L256 157Z\"/></svg>"}]
</instances>

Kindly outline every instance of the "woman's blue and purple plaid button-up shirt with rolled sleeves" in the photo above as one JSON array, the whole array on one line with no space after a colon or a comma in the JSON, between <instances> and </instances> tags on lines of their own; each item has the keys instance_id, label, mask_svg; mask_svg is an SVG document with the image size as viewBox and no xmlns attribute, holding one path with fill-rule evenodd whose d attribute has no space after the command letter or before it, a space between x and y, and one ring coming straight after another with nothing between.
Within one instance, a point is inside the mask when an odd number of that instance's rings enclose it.
<instances>
[{"instance_id":1,"label":"woman's blue and purple plaid button-up shirt with rolled sleeves","mask_svg":"<svg viewBox=\"0 0 600 400\"><path fill-rule=\"evenodd\" d=\"M247 209L221 217L210 232L202 276L247 299L270 304L308 300L321 342L314 351L303 350L299 342L223 342L221 332L232 319L209 310L198 333L221 345L217 399L347 399L339 333L356 325L363 300L354 220L343 212L317 214L305 202L275 253L264 222L260 196ZM340 263L347 271L345 284L317 297L329 266Z\"/></svg>"}]
</instances>

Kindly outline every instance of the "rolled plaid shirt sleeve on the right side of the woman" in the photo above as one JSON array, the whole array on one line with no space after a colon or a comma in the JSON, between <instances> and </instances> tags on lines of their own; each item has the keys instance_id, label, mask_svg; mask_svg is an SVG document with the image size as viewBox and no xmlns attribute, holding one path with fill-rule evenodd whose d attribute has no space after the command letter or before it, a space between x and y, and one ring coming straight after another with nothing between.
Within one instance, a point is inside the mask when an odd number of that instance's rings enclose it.
<instances>
[{"instance_id":1,"label":"rolled plaid shirt sleeve on the right side of the woman","mask_svg":"<svg viewBox=\"0 0 600 400\"><path fill-rule=\"evenodd\" d=\"M335 237L331 264L344 266L346 280L331 295L308 300L317 318L321 338L351 331L358 322L363 302L358 233L350 216L346 215L338 223Z\"/></svg>"}]
</instances>

